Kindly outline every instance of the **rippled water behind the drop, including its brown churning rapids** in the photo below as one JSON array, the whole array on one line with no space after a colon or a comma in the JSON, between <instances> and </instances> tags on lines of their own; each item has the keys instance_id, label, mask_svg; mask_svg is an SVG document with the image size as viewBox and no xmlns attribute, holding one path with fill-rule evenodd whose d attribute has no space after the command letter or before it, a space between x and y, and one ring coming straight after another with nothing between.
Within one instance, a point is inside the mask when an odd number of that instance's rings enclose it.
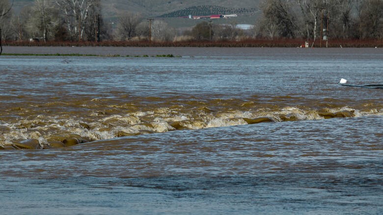
<instances>
[{"instance_id":1,"label":"rippled water behind the drop, including its brown churning rapids","mask_svg":"<svg viewBox=\"0 0 383 215\"><path fill-rule=\"evenodd\" d=\"M342 77L382 80L374 61L381 55L358 62L360 55L337 52L322 58L307 50L247 52L164 59L3 56L0 146L50 148L180 129L383 114L382 90L336 84Z\"/></svg>"}]
</instances>

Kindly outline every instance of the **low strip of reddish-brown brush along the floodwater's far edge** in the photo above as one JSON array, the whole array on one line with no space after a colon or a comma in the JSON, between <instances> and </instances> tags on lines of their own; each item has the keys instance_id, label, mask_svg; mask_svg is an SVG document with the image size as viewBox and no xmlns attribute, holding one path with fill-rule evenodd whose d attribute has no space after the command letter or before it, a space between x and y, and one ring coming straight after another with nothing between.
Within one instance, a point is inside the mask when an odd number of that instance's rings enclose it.
<instances>
[{"instance_id":1,"label":"low strip of reddish-brown brush along the floodwater's far edge","mask_svg":"<svg viewBox=\"0 0 383 215\"><path fill-rule=\"evenodd\" d=\"M102 41L102 42L29 42L5 41L3 46L53 46L53 47L300 47L304 39L247 39L241 41L182 41L182 42L151 42L148 41ZM320 41L308 41L310 47L321 47ZM326 47L326 41L322 41ZM383 47L383 40L351 40L334 39L328 41L328 47L342 48L375 48Z\"/></svg>"}]
</instances>

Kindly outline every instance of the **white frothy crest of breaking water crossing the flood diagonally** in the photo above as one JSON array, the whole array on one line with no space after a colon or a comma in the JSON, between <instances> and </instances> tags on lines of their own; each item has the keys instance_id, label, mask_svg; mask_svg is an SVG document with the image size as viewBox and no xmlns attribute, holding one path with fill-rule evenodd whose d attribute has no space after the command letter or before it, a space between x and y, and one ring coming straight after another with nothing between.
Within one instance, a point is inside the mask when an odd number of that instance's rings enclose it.
<instances>
[{"instance_id":1,"label":"white frothy crest of breaking water crossing the flood diagonally","mask_svg":"<svg viewBox=\"0 0 383 215\"><path fill-rule=\"evenodd\" d=\"M358 110L349 106L337 108L325 108L325 112L335 113L338 111L353 112L355 117L366 115L383 115L383 108L374 108L375 104L366 104L365 109ZM90 114L92 115L92 114ZM205 109L179 109L157 108L154 111L136 111L129 114L99 115L94 113L91 117L76 118L65 115L45 116L35 115L18 120L14 124L0 121L3 134L0 136L1 144L11 144L19 139L38 139L41 144L47 144L47 140L53 135L78 134L89 137L92 140L115 138L121 135L144 133L164 133L174 128L172 122L179 122L181 127L197 130L203 128L226 127L247 124L243 118L269 117L276 122L286 120L317 120L324 117L319 115L318 110L286 106L283 108L263 107L250 110L215 110ZM73 117L73 118L72 118ZM85 123L89 128L84 128L80 123Z\"/></svg>"}]
</instances>

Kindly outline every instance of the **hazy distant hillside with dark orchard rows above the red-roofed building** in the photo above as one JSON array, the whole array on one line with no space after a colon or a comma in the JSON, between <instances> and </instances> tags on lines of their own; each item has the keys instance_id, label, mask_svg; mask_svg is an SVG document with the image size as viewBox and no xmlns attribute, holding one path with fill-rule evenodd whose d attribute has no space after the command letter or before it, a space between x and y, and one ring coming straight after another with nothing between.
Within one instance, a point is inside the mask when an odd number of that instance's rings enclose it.
<instances>
[{"instance_id":1,"label":"hazy distant hillside with dark orchard rows above the red-roofed building","mask_svg":"<svg viewBox=\"0 0 383 215\"><path fill-rule=\"evenodd\" d=\"M135 12L144 17L173 18L182 16L207 16L238 14L248 16L259 13L260 0L100 0L102 15L115 20L119 13ZM13 10L20 13L34 0L15 0Z\"/></svg>"}]
</instances>

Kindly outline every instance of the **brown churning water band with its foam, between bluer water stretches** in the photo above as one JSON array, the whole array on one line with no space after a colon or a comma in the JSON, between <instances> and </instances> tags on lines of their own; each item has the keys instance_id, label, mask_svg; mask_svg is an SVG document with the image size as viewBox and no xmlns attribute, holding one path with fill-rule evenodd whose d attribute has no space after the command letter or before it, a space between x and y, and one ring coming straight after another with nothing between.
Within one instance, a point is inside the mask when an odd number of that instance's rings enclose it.
<instances>
[{"instance_id":1,"label":"brown churning water band with its foam, between bluer water stretches","mask_svg":"<svg viewBox=\"0 0 383 215\"><path fill-rule=\"evenodd\" d=\"M49 149L183 129L383 115L380 100L364 103L323 100L321 103L316 99L287 96L264 100L258 97L198 100L115 93L121 96L98 99L80 96L66 98L65 103L52 97L36 102L36 98L25 96L21 99L23 105L19 100L13 102L13 98L8 98L12 102L2 101L0 106L0 149ZM301 105L283 105L295 103ZM40 146L20 145L22 141L38 141Z\"/></svg>"}]
</instances>

